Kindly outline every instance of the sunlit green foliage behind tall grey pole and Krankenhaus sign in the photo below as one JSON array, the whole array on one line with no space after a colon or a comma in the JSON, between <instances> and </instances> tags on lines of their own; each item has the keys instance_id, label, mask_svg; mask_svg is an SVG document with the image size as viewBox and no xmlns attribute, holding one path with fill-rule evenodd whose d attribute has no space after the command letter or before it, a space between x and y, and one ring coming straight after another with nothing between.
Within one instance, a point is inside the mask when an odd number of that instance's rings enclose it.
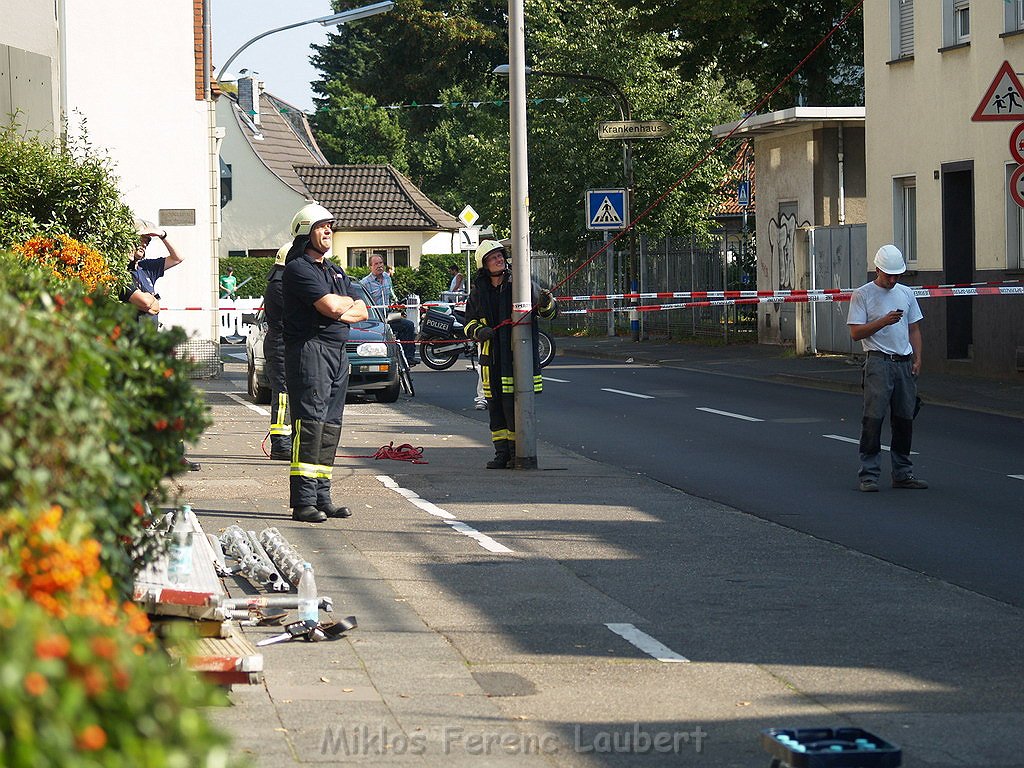
<instances>
[{"instance_id":1,"label":"sunlit green foliage behind tall grey pole and Krankenhaus sign","mask_svg":"<svg viewBox=\"0 0 1024 768\"><path fill-rule=\"evenodd\" d=\"M313 122L332 160L381 162L368 136L373 126L397 125L406 142L393 141L388 162L400 168L408 159L409 174L431 199L453 212L471 204L481 223L507 236L508 83L492 74L508 60L506 10L492 0L398 0L391 12L331 36L313 59L324 72ZM738 117L733 94L745 83L726 88L714 67L683 81L663 62L684 44L638 34L637 24L637 11L610 5L595 13L583 0L526 5L536 71L604 77L626 93L635 119L674 126L668 138L633 142L640 211L702 157L712 126ZM622 141L596 138L597 123L618 119L616 102L593 81L538 75L527 87L531 243L577 254L588 237L584 191L625 183ZM368 122L371 129L360 129ZM702 165L657 205L646 231L706 228L711 191L727 165L721 157Z\"/></svg>"}]
</instances>

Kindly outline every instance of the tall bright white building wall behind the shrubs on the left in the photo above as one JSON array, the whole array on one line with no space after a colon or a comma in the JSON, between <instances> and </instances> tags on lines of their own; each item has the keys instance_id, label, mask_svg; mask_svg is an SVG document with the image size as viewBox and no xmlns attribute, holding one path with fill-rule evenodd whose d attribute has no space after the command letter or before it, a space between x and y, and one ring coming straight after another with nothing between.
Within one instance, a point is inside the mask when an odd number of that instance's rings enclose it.
<instances>
[{"instance_id":1,"label":"tall bright white building wall behind the shrubs on the left","mask_svg":"<svg viewBox=\"0 0 1024 768\"><path fill-rule=\"evenodd\" d=\"M66 14L71 131L84 119L136 216L164 226L161 210L195 212L194 225L166 226L185 260L157 286L174 309L161 322L216 340L216 157L212 104L196 99L193 4L69 2ZM162 253L155 242L148 255Z\"/></svg>"}]
</instances>

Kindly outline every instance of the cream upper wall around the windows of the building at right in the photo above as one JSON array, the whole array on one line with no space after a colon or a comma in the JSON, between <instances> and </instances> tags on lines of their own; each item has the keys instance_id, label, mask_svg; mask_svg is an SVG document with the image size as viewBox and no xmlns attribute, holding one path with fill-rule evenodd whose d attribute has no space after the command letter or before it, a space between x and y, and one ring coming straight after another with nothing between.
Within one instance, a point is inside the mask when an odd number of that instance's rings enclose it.
<instances>
[{"instance_id":1,"label":"cream upper wall around the windows of the building at right","mask_svg":"<svg viewBox=\"0 0 1024 768\"><path fill-rule=\"evenodd\" d=\"M974 123L971 116L1002 61L1024 71L1024 36L999 37L1005 4L971 3L972 41L943 47L945 0L914 3L914 56L890 62L891 0L864 4L864 78L868 252L895 240L893 180L918 183L920 270L941 270L943 163L974 161L975 253L978 269L1007 268L1006 163L1011 121ZM887 63L889 62L889 63Z\"/></svg>"}]
</instances>

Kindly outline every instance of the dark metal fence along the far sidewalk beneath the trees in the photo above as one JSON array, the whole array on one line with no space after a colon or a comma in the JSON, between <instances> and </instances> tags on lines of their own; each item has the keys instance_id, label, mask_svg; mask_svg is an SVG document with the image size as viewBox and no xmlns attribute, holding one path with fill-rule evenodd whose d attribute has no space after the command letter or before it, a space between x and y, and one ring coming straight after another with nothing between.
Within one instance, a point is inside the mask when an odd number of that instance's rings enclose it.
<instances>
[{"instance_id":1,"label":"dark metal fence along the far sidewalk beneath the trees","mask_svg":"<svg viewBox=\"0 0 1024 768\"><path fill-rule=\"evenodd\" d=\"M629 241L623 238L593 258L604 243L587 244L587 263L575 271L564 258L538 253L532 257L534 275L544 286L558 286L558 296L631 293L629 287ZM722 233L712 240L640 236L636 242L637 289L640 293L679 291L733 291L757 288L754 238ZM575 272L573 274L573 272ZM562 281L568 275L564 284ZM641 299L644 306L678 305L686 299ZM573 301L562 304L562 314L552 326L567 334L627 335L632 332L629 311L573 310L626 309L625 300ZM723 342L757 340L756 306L688 306L637 312L642 338L707 338Z\"/></svg>"}]
</instances>

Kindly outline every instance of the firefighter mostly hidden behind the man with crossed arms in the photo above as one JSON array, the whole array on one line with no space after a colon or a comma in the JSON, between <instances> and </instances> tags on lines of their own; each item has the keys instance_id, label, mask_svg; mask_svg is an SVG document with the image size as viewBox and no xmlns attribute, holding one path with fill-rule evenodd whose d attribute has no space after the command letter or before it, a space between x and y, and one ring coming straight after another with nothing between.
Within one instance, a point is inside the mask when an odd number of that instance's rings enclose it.
<instances>
[{"instance_id":1,"label":"firefighter mostly hidden behind the man with crossed arms","mask_svg":"<svg viewBox=\"0 0 1024 768\"><path fill-rule=\"evenodd\" d=\"M285 258L291 245L282 246L266 275L263 294L263 316L266 335L263 337L263 357L266 378L270 382L270 458L292 460L292 424L288 420L288 385L285 382Z\"/></svg>"}]
</instances>

